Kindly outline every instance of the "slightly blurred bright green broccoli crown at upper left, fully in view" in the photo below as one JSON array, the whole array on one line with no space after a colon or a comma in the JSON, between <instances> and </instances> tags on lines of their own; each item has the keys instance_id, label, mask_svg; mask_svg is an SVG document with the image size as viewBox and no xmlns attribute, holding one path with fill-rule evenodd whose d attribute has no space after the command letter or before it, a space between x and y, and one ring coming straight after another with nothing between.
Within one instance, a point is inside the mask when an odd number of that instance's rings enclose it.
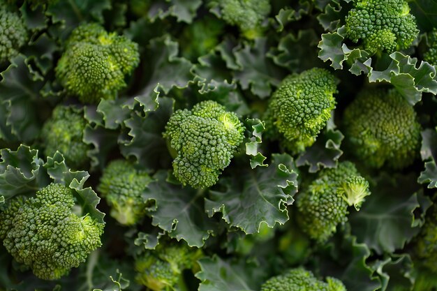
<instances>
[{"instance_id":1,"label":"slightly blurred bright green broccoli crown at upper left, fully in view","mask_svg":"<svg viewBox=\"0 0 437 291\"><path fill-rule=\"evenodd\" d=\"M68 92L82 103L114 99L126 87L124 75L140 63L138 45L107 33L99 24L82 24L66 41L56 73Z\"/></svg>"}]
</instances>

